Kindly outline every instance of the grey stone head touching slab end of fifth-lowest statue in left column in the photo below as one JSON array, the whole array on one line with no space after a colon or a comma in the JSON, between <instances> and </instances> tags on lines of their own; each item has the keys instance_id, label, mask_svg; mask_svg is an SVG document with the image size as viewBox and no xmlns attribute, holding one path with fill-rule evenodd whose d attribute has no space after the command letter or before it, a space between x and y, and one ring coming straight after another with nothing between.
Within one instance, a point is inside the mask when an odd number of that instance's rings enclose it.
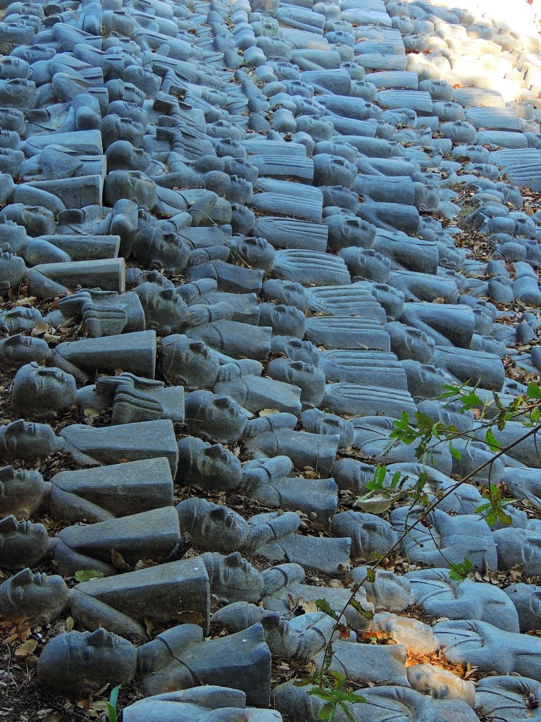
<instances>
[{"instance_id":1,"label":"grey stone head touching slab end of fifth-lowest statue in left column","mask_svg":"<svg viewBox=\"0 0 541 722\"><path fill-rule=\"evenodd\" d=\"M221 488L234 489L241 475L240 461L221 444L211 444L194 436L187 436L178 443L179 471L195 487L211 488L216 479ZM213 487L214 488L214 487Z\"/></svg>"}]
</instances>

